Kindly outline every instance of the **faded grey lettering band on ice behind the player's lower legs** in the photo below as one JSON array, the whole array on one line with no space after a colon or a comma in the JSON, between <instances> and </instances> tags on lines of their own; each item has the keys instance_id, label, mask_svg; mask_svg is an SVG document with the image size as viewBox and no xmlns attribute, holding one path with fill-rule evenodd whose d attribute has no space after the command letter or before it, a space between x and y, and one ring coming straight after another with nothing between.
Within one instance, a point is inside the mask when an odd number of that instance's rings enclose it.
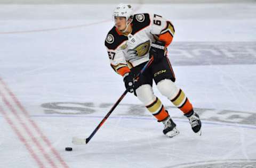
<instances>
[{"instance_id":1,"label":"faded grey lettering band on ice behind the player's lower legs","mask_svg":"<svg viewBox=\"0 0 256 168\"><path fill-rule=\"evenodd\" d=\"M45 114L66 114L67 116L77 117L101 117L106 114L113 106L111 103L96 104L93 102L77 103L77 102L51 102L44 103ZM173 106L166 106L170 115L174 119L185 119L182 113ZM256 113L233 111L233 110L217 110L214 108L195 108L200 115L201 120L210 124L225 123L237 127L249 128L246 125L256 126ZM48 116L48 115L47 115ZM151 115L147 112L143 105L137 104L119 104L111 117L127 117L132 119L151 119ZM254 128L254 127L250 127ZM255 127L256 129L256 127Z\"/></svg>"}]
</instances>

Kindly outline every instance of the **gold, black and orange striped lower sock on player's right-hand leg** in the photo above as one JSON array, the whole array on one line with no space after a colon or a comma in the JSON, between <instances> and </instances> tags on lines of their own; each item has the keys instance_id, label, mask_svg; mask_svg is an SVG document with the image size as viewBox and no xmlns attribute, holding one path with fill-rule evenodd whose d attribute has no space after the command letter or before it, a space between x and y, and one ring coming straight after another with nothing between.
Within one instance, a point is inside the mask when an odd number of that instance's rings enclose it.
<instances>
[{"instance_id":1,"label":"gold, black and orange striped lower sock on player's right-hand leg","mask_svg":"<svg viewBox=\"0 0 256 168\"><path fill-rule=\"evenodd\" d=\"M189 102L185 93L180 89L177 96L171 99L171 102L178 107L184 114L193 110L192 104Z\"/></svg>"}]
</instances>

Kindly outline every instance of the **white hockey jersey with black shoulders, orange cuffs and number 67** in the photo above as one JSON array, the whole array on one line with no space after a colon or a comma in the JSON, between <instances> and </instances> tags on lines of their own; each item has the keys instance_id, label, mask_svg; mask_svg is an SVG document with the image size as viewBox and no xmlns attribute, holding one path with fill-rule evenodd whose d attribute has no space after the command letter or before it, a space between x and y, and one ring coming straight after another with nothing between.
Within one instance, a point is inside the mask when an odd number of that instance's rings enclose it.
<instances>
[{"instance_id":1,"label":"white hockey jersey with black shoulders, orange cuffs and number 67","mask_svg":"<svg viewBox=\"0 0 256 168\"><path fill-rule=\"evenodd\" d=\"M149 60L152 42L165 41L167 47L174 36L172 23L156 14L135 14L131 25L132 32L129 35L123 35L114 26L105 40L110 65L121 75Z\"/></svg>"}]
</instances>

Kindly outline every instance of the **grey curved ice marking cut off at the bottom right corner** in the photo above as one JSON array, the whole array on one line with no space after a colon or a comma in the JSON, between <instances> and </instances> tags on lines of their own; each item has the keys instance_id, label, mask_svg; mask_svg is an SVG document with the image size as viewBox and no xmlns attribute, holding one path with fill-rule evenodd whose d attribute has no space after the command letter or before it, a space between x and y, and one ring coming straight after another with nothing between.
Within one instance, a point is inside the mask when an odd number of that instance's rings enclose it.
<instances>
[{"instance_id":1,"label":"grey curved ice marking cut off at the bottom right corner","mask_svg":"<svg viewBox=\"0 0 256 168\"><path fill-rule=\"evenodd\" d=\"M163 168L254 168L256 167L256 160L245 160L245 159L232 159L232 160L220 160L220 161L204 161L204 162L193 162L184 163L173 166L167 166Z\"/></svg>"}]
</instances>

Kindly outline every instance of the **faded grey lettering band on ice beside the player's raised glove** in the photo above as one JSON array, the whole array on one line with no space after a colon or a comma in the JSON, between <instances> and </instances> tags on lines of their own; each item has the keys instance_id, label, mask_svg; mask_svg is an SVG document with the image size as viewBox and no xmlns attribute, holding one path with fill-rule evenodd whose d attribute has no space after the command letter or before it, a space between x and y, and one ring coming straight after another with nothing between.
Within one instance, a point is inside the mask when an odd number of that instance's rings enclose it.
<instances>
[{"instance_id":1,"label":"faded grey lettering band on ice beside the player's raised glove","mask_svg":"<svg viewBox=\"0 0 256 168\"><path fill-rule=\"evenodd\" d=\"M256 64L256 42L175 42L172 65Z\"/></svg>"}]
</instances>

